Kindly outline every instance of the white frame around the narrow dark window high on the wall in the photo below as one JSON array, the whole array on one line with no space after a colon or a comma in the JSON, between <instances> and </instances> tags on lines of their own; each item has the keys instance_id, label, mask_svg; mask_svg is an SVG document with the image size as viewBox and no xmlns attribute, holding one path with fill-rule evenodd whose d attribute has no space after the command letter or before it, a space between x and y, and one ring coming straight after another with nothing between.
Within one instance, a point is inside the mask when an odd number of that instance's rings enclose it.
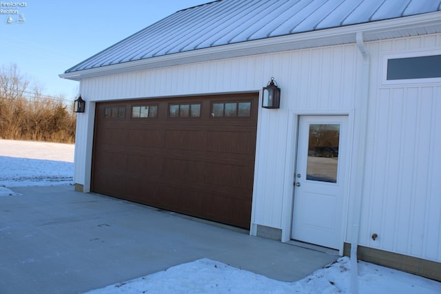
<instances>
[{"instance_id":1,"label":"white frame around the narrow dark window high on the wall","mask_svg":"<svg viewBox=\"0 0 441 294\"><path fill-rule=\"evenodd\" d=\"M382 74L381 85L414 85L414 84L427 84L427 83L441 83L441 77L439 78L407 78L402 80L388 80L387 79L387 61L389 59L403 59L412 57L423 57L431 55L441 55L441 50L420 50L420 51L407 51L401 53L385 53L382 56Z\"/></svg>"}]
</instances>

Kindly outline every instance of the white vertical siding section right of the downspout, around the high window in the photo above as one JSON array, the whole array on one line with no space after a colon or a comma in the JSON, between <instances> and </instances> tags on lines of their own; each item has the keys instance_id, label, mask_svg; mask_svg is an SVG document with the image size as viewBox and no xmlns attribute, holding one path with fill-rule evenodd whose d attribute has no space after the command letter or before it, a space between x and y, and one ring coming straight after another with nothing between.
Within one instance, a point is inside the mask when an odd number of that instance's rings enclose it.
<instances>
[{"instance_id":1,"label":"white vertical siding section right of the downspout, around the high window","mask_svg":"<svg viewBox=\"0 0 441 294\"><path fill-rule=\"evenodd\" d=\"M381 85L382 56L440 49L440 34L369 43L371 85L360 244L441 261L441 92ZM371 234L378 238L371 240Z\"/></svg>"}]
</instances>

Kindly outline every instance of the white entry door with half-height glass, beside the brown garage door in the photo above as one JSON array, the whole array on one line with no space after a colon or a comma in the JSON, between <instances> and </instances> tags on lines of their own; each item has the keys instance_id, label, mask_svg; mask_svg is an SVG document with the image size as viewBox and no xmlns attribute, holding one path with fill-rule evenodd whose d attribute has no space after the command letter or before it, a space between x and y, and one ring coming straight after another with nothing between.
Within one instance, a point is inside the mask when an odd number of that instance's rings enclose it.
<instances>
[{"instance_id":1,"label":"white entry door with half-height glass, beside the brown garage door","mask_svg":"<svg viewBox=\"0 0 441 294\"><path fill-rule=\"evenodd\" d=\"M347 116L300 116L291 238L342 245Z\"/></svg>"}]
</instances>

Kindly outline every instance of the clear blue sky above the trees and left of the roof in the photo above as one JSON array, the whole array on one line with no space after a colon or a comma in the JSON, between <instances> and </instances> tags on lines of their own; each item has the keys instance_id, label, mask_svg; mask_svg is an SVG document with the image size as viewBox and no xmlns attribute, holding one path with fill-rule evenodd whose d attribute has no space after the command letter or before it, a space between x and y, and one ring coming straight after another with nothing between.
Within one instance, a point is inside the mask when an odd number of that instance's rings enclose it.
<instances>
[{"instance_id":1,"label":"clear blue sky above the trees and left of the roof","mask_svg":"<svg viewBox=\"0 0 441 294\"><path fill-rule=\"evenodd\" d=\"M0 1L0 67L15 63L43 94L72 100L79 83L59 74L178 10L208 2Z\"/></svg>"}]
</instances>

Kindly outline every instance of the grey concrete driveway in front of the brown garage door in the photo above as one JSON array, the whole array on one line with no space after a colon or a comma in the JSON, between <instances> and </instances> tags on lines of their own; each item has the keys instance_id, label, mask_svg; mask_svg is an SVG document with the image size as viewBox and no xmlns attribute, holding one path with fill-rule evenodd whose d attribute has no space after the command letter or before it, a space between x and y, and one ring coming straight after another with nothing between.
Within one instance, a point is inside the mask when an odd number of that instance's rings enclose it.
<instances>
[{"instance_id":1,"label":"grey concrete driveway in front of the brown garage door","mask_svg":"<svg viewBox=\"0 0 441 294\"><path fill-rule=\"evenodd\" d=\"M294 282L338 258L176 213L75 192L0 197L0 292L81 293L209 258Z\"/></svg>"}]
</instances>

